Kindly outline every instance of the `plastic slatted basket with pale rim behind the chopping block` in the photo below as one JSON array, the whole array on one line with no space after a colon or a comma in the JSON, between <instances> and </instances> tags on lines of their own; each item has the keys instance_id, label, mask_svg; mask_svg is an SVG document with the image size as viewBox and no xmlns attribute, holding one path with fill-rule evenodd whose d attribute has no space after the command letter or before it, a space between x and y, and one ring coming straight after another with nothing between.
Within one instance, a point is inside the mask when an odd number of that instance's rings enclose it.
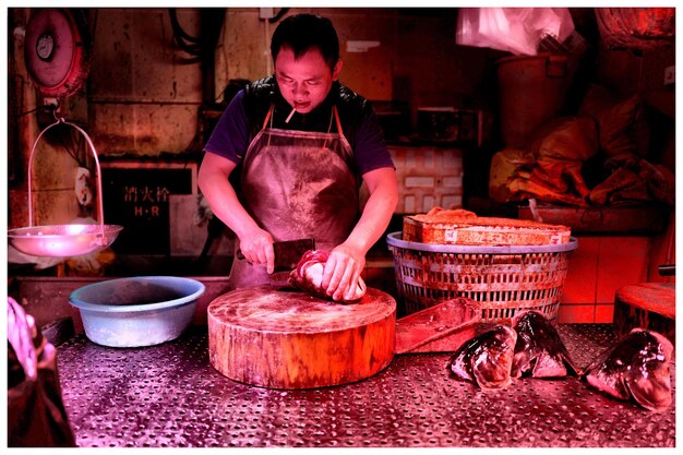
<instances>
[{"instance_id":1,"label":"plastic slatted basket with pale rim behind the chopping block","mask_svg":"<svg viewBox=\"0 0 683 455\"><path fill-rule=\"evenodd\" d=\"M522 310L537 310L553 321L575 238L547 246L452 246L387 236L394 255L396 287L406 314L455 297L480 302L482 322L510 323Z\"/></svg>"}]
</instances>

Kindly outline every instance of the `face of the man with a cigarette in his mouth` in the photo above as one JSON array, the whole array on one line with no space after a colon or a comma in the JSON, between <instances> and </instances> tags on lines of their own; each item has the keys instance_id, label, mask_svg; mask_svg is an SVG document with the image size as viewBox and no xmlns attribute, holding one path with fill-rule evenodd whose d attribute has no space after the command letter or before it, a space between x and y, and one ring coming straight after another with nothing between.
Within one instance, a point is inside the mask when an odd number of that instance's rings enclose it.
<instances>
[{"instance_id":1,"label":"face of the man with a cigarette in his mouth","mask_svg":"<svg viewBox=\"0 0 683 455\"><path fill-rule=\"evenodd\" d=\"M340 70L342 60L329 71L317 49L311 49L295 60L295 52L285 46L275 59L275 77L280 92L300 113L310 112L325 99Z\"/></svg>"}]
</instances>

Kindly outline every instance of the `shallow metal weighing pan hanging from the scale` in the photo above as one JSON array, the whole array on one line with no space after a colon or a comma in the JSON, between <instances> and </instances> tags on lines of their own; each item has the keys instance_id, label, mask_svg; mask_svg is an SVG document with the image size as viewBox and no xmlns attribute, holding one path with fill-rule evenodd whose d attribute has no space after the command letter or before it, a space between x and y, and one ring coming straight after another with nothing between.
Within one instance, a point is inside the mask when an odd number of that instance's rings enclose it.
<instances>
[{"instance_id":1,"label":"shallow metal weighing pan hanging from the scale","mask_svg":"<svg viewBox=\"0 0 683 455\"><path fill-rule=\"evenodd\" d=\"M8 230L12 247L32 256L70 258L109 247L123 229L117 225L48 225Z\"/></svg>"}]
</instances>

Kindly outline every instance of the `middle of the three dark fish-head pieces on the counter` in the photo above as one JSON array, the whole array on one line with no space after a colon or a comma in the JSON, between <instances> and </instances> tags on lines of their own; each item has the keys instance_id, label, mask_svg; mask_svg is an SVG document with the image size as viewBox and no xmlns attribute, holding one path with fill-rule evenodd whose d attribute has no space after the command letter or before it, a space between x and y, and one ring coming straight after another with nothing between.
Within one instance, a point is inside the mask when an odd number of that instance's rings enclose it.
<instances>
[{"instance_id":1,"label":"middle of the three dark fish-head pieces on the counter","mask_svg":"<svg viewBox=\"0 0 683 455\"><path fill-rule=\"evenodd\" d=\"M517 332L512 375L519 378L564 378L568 370L578 375L555 327L538 311L523 311L512 321Z\"/></svg>"}]
</instances>

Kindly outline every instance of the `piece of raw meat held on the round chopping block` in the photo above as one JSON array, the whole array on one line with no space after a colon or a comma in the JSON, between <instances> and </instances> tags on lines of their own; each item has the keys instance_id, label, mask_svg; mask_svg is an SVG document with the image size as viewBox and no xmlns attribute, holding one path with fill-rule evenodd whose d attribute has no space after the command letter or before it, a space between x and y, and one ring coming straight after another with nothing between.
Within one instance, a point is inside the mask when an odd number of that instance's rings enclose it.
<instances>
[{"instance_id":1,"label":"piece of raw meat held on the round chopping block","mask_svg":"<svg viewBox=\"0 0 683 455\"><path fill-rule=\"evenodd\" d=\"M322 287L323 271L325 270L327 258L329 258L329 253L325 250L309 250L303 253L297 267L289 274L289 284L321 299L332 300L332 296L327 296L327 292ZM356 302L364 295L366 283L362 278L359 278L351 298L345 299L343 296L342 301L346 303Z\"/></svg>"}]
</instances>

